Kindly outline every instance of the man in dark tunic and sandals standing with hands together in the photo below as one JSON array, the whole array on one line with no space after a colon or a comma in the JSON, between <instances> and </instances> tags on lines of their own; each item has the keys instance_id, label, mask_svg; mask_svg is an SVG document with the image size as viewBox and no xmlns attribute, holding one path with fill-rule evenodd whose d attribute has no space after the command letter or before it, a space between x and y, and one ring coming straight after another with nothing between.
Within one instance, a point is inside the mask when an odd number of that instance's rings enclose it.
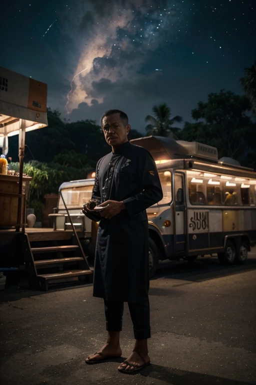
<instances>
[{"instance_id":1,"label":"man in dark tunic and sandals standing with hands together","mask_svg":"<svg viewBox=\"0 0 256 385\"><path fill-rule=\"evenodd\" d=\"M92 190L92 200L104 208L98 226L93 296L104 299L108 335L106 343L85 362L98 363L121 356L119 332L123 302L127 302L135 345L118 370L130 374L150 364L145 210L162 199L162 189L150 153L128 141L127 115L119 110L106 111L101 126L112 152L98 161Z\"/></svg>"}]
</instances>

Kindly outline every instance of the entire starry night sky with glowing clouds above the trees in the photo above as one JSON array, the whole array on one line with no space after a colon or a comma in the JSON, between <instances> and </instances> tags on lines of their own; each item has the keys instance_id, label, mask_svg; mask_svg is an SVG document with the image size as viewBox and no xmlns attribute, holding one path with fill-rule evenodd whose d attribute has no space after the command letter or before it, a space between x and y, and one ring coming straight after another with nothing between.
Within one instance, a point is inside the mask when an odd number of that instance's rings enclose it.
<instances>
[{"instance_id":1,"label":"entire starry night sky with glowing clouds above the trees","mask_svg":"<svg viewBox=\"0 0 256 385\"><path fill-rule=\"evenodd\" d=\"M241 94L256 59L255 0L3 0L0 14L0 65L47 83L71 121L118 108L144 132L162 102L192 121L208 93Z\"/></svg>"}]
</instances>

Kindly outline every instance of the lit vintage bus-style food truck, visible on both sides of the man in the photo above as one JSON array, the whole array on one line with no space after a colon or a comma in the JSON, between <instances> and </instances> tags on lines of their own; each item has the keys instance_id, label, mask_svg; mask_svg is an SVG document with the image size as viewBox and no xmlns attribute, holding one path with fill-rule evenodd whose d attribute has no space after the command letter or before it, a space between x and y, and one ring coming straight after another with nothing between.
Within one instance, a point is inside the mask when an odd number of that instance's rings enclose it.
<instances>
[{"instance_id":1,"label":"lit vintage bus-style food truck, visible on both sides of the man","mask_svg":"<svg viewBox=\"0 0 256 385\"><path fill-rule=\"evenodd\" d=\"M152 154L163 190L162 200L147 209L150 275L165 259L194 261L216 254L221 264L244 263L256 243L256 172L233 159L218 159L215 147L198 142L159 136L131 142ZM88 178L59 188L92 254L97 224L82 216L81 207L91 198L93 184ZM64 213L59 197L53 214L59 230L68 226Z\"/></svg>"}]
</instances>

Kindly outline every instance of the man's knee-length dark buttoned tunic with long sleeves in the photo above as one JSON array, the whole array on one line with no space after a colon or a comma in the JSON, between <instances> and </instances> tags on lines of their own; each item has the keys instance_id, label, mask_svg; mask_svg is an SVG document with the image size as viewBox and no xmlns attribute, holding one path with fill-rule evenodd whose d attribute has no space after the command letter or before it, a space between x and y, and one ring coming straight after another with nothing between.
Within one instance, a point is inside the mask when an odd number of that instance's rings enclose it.
<instances>
[{"instance_id":1,"label":"man's knee-length dark buttoned tunic with long sleeves","mask_svg":"<svg viewBox=\"0 0 256 385\"><path fill-rule=\"evenodd\" d=\"M162 199L154 160L126 142L101 158L92 199L123 201L125 210L99 222L93 295L109 301L139 302L148 291L148 226L145 210Z\"/></svg>"}]
</instances>

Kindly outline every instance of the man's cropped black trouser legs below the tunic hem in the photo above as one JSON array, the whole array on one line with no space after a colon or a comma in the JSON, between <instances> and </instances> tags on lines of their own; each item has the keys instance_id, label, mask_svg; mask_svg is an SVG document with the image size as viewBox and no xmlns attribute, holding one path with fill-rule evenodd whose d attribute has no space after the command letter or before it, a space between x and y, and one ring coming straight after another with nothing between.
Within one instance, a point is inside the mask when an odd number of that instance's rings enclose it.
<instances>
[{"instance_id":1,"label":"man's cropped black trouser legs below the tunic hem","mask_svg":"<svg viewBox=\"0 0 256 385\"><path fill-rule=\"evenodd\" d=\"M114 302L104 300L106 330L121 331L123 302ZM149 301L146 294L139 303L128 302L130 318L133 324L133 332L135 339L150 338L150 315Z\"/></svg>"}]
</instances>

